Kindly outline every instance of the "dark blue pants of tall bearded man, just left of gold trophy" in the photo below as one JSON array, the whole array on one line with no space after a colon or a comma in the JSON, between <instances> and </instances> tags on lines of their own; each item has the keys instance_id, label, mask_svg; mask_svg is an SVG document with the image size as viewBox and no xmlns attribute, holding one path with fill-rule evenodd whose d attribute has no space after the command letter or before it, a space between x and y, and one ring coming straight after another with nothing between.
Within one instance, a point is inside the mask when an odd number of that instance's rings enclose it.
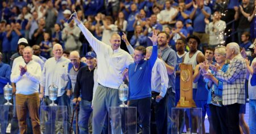
<instances>
[{"instance_id":1,"label":"dark blue pants of tall bearded man, just left of gold trophy","mask_svg":"<svg viewBox=\"0 0 256 134\"><path fill-rule=\"evenodd\" d=\"M171 90L171 89L168 89ZM167 114L168 114L168 119L167 119L167 131L168 133L172 132L172 121L171 121L171 117L172 117L172 107L175 107L175 93L171 92L171 93L166 93L167 99L166 99L166 103L167 103Z\"/></svg>"}]
</instances>

